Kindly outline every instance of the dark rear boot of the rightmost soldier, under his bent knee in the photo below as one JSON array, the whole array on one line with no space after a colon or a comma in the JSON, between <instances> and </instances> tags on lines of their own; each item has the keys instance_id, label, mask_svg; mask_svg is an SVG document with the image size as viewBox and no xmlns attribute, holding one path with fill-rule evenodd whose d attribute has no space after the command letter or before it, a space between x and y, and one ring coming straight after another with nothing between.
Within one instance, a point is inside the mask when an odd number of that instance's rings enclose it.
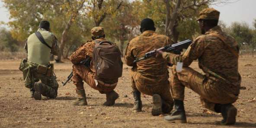
<instances>
[{"instance_id":1,"label":"dark rear boot of the rightmost soldier, under his bent knee","mask_svg":"<svg viewBox=\"0 0 256 128\"><path fill-rule=\"evenodd\" d=\"M236 123L237 109L232 104L221 105L221 115L223 117L221 125L234 125Z\"/></svg>"}]
</instances>

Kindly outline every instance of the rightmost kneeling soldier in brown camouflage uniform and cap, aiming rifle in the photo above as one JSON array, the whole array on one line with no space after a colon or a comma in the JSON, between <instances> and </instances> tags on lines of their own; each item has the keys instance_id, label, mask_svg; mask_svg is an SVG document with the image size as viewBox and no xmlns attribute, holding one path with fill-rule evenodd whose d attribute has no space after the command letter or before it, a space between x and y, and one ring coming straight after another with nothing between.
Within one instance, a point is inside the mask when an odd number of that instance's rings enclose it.
<instances>
[{"instance_id":1,"label":"rightmost kneeling soldier in brown camouflage uniform and cap, aiming rifle","mask_svg":"<svg viewBox=\"0 0 256 128\"><path fill-rule=\"evenodd\" d=\"M237 109L232 105L239 94L241 77L238 72L238 44L234 38L222 32L218 26L220 12L213 8L202 10L199 14L199 26L202 30L182 55L162 53L162 57L172 68L171 91L176 111L166 116L169 122L186 122L183 106L185 86L198 93L202 106L221 113L221 124L231 125L236 122ZM189 67L198 59L199 67L205 75ZM180 62L183 63L179 70Z\"/></svg>"}]
</instances>

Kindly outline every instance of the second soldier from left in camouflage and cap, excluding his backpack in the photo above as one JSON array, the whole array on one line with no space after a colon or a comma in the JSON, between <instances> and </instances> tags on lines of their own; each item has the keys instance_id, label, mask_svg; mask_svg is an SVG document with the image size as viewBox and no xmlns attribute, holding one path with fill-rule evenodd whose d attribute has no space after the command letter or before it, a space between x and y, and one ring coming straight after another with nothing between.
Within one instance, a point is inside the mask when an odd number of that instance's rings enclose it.
<instances>
[{"instance_id":1,"label":"second soldier from left in camouflage and cap, excluding his backpack","mask_svg":"<svg viewBox=\"0 0 256 128\"><path fill-rule=\"evenodd\" d=\"M86 67L80 64L86 56L93 60L93 48L95 42L105 41L104 29L102 27L94 27L91 30L92 39L89 40L80 47L70 56L73 65L73 82L77 86L77 94L79 98L73 102L74 106L87 106L86 94L83 88L83 80L93 89L98 90L101 94L106 94L106 102L104 106L112 106L115 104L115 100L118 99L118 93L114 91L118 79L115 80L95 80L95 67L94 61L90 62L90 67Z\"/></svg>"}]
</instances>

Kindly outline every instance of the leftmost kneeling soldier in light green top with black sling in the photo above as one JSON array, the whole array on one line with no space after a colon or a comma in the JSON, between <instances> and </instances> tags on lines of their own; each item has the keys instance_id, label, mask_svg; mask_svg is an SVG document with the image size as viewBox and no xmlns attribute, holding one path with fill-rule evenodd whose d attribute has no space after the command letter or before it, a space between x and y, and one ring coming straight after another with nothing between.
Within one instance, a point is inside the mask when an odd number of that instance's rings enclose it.
<instances>
[{"instance_id":1,"label":"leftmost kneeling soldier in light green top with black sling","mask_svg":"<svg viewBox=\"0 0 256 128\"><path fill-rule=\"evenodd\" d=\"M25 49L27 59L22 59L19 69L23 72L25 86L30 89L31 97L41 99L41 94L55 98L58 94L58 83L54 76L53 64L50 64L50 54L58 55L57 38L50 32L48 21L40 22L38 32L41 33L45 43L40 42L35 33L29 35ZM39 83L41 80L41 83Z\"/></svg>"}]
</instances>

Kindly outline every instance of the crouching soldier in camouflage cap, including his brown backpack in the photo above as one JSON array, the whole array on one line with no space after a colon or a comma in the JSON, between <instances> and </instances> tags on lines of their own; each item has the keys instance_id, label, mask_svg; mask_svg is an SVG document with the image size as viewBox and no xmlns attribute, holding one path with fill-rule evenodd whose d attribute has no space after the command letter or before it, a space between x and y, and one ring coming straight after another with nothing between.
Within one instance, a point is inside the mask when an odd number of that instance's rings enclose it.
<instances>
[{"instance_id":1,"label":"crouching soldier in camouflage cap, including his brown backpack","mask_svg":"<svg viewBox=\"0 0 256 128\"><path fill-rule=\"evenodd\" d=\"M94 27L91 30L91 34L93 40L89 40L78 47L70 56L70 60L74 64L74 76L72 79L74 85L77 87L76 90L79 96L73 102L73 105L87 105L83 87L84 80L90 87L98 90L99 93L106 94L106 102L103 103L104 106L112 106L119 97L114 89L118 83L118 77L122 76L121 52L116 45L105 40L104 29L102 27ZM99 57L101 55L102 57ZM89 65L80 64L81 61L88 57L90 58Z\"/></svg>"}]
</instances>

